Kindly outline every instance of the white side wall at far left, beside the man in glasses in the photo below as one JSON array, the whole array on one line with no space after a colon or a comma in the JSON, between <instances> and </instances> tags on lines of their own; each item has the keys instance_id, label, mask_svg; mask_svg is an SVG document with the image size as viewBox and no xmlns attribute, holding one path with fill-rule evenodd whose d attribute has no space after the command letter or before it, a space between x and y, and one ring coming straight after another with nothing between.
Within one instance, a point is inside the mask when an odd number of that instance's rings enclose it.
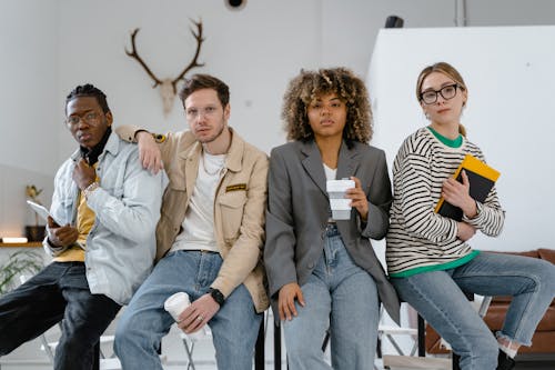
<instances>
[{"instance_id":1,"label":"white side wall at far left, beside the man in glasses","mask_svg":"<svg viewBox=\"0 0 555 370\"><path fill-rule=\"evenodd\" d=\"M63 107L57 19L56 1L0 1L0 164L42 173L57 167L57 108Z\"/></svg>"}]
</instances>

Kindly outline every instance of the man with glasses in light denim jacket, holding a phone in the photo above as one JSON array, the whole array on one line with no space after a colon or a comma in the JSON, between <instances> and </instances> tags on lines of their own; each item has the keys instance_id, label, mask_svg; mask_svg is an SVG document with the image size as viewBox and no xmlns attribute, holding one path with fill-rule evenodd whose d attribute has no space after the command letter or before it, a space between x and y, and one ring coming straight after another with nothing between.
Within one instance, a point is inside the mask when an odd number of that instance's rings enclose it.
<instances>
[{"instance_id":1,"label":"man with glasses in light denim jacket, holding a phone","mask_svg":"<svg viewBox=\"0 0 555 370\"><path fill-rule=\"evenodd\" d=\"M78 86L65 126L79 149L61 166L43 244L53 259L0 298L0 356L61 321L54 369L99 368L99 339L152 269L161 174L111 134L105 94Z\"/></svg>"}]
</instances>

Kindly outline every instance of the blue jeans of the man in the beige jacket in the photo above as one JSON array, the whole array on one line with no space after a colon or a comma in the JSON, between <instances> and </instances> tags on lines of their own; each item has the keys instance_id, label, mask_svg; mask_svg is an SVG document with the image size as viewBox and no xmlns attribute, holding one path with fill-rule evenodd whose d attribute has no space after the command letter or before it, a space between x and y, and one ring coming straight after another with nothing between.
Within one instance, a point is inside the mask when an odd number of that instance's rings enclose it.
<instances>
[{"instance_id":1,"label":"blue jeans of the man in the beige jacket","mask_svg":"<svg viewBox=\"0 0 555 370\"><path fill-rule=\"evenodd\" d=\"M184 291L194 301L208 292L221 266L219 253L183 250L158 262L118 322L114 350L123 369L162 369L158 356L161 340L174 323L164 310L165 299ZM261 320L246 288L235 288L208 323L219 369L252 368Z\"/></svg>"}]
</instances>

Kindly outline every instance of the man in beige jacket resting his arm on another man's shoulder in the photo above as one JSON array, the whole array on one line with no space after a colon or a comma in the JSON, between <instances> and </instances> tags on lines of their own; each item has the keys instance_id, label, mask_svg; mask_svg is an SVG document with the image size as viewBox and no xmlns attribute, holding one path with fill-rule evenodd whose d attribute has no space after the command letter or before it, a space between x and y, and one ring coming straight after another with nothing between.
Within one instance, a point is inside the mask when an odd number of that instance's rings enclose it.
<instances>
[{"instance_id":1,"label":"man in beige jacket resting his arm on another man's shoulder","mask_svg":"<svg viewBox=\"0 0 555 370\"><path fill-rule=\"evenodd\" d=\"M114 349L124 369L162 369L160 343L174 322L164 301L183 291L192 304L179 328L192 333L208 323L218 368L251 369L269 306L261 262L268 157L228 126L224 82L195 74L180 98L189 131L117 131L139 142L144 167L165 169L169 184L157 227L158 263L121 317Z\"/></svg>"}]
</instances>

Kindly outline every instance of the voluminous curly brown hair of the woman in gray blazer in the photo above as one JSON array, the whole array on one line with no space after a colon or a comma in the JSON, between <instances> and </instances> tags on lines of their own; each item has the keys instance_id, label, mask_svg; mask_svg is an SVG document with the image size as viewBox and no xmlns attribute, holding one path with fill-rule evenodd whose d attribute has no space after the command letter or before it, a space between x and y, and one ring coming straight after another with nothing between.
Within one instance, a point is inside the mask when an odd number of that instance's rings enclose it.
<instances>
[{"instance_id":1,"label":"voluminous curly brown hair of the woman in gray blazer","mask_svg":"<svg viewBox=\"0 0 555 370\"><path fill-rule=\"evenodd\" d=\"M309 122L307 108L316 97L336 93L346 104L346 124L343 138L367 143L372 139L372 110L364 82L346 68L301 70L291 80L283 96L282 119L287 140L307 141L314 138Z\"/></svg>"}]
</instances>

